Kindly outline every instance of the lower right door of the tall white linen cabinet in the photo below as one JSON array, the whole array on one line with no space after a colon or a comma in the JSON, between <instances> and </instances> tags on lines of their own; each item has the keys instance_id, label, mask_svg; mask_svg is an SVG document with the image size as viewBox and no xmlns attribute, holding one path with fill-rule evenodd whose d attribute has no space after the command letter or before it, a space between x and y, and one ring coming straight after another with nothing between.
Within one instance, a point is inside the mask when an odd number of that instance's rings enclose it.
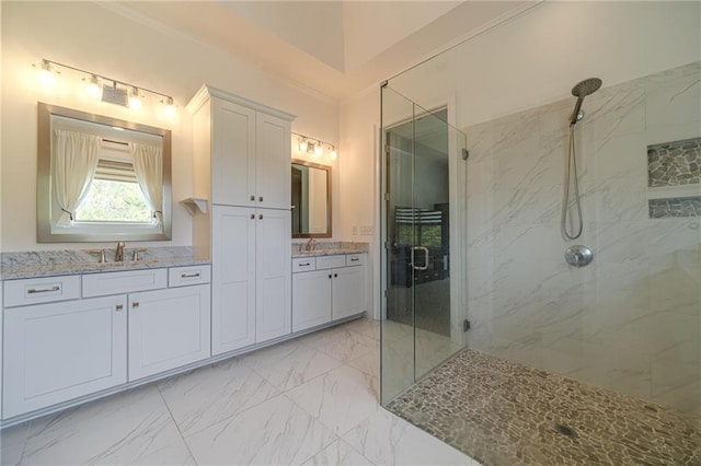
<instances>
[{"instance_id":1,"label":"lower right door of the tall white linen cabinet","mask_svg":"<svg viewBox=\"0 0 701 466\"><path fill-rule=\"evenodd\" d=\"M289 210L258 209L256 235L255 341L261 342L292 328Z\"/></svg>"}]
</instances>

